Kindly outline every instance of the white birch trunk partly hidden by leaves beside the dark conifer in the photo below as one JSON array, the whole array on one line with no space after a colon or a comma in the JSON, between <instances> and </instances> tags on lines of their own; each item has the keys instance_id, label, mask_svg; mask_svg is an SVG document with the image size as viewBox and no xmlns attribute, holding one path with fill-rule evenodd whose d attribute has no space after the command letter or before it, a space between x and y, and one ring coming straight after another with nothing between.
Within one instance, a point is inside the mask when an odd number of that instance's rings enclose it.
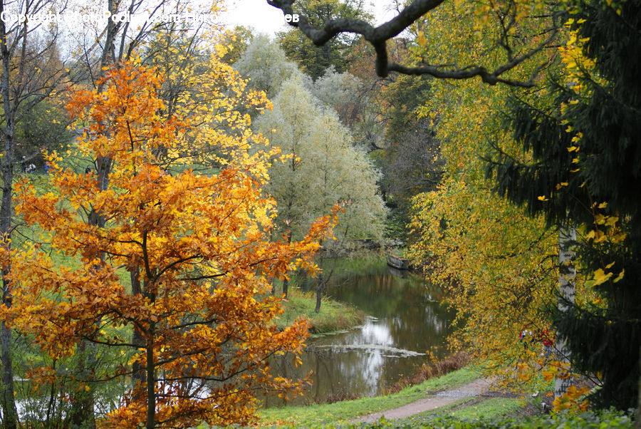
<instances>
[{"instance_id":1,"label":"white birch trunk partly hidden by leaves beside the dark conifer","mask_svg":"<svg viewBox=\"0 0 641 429\"><path fill-rule=\"evenodd\" d=\"M563 299L570 303L574 302L574 281L576 270L574 268L575 252L573 246L576 242L576 229L575 227L568 227L567 225L561 226L558 233L558 283L559 292L562 299L558 303L559 311L568 311L568 306ZM557 360L563 363L570 363L570 351L566 348L566 341L556 336L556 350ZM563 396L570 387L570 377L559 378L554 380L554 397L558 398Z\"/></svg>"}]
</instances>

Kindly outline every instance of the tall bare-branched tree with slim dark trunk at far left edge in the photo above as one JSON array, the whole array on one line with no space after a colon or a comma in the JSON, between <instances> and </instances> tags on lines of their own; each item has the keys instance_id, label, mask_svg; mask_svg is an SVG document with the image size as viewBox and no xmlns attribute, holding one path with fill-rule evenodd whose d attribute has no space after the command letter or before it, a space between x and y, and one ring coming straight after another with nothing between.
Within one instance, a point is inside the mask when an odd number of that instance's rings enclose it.
<instances>
[{"instance_id":1,"label":"tall bare-branched tree with slim dark trunk at far left edge","mask_svg":"<svg viewBox=\"0 0 641 429\"><path fill-rule=\"evenodd\" d=\"M53 1L0 1L0 14L46 14L56 4ZM38 34L45 37L39 38ZM2 137L2 200L0 203L0 247L8 251L13 231L13 207L11 198L14 191L14 166L16 165L16 131L26 115L33 108L61 88L66 82L68 71L64 71L58 58L58 29L45 29L42 22L0 20L0 98L3 114L0 120ZM44 40L44 41L43 41ZM31 153L30 157L38 155ZM2 269L2 306L9 309L11 297L11 265ZM14 399L13 358L11 356L11 330L5 322L0 325L0 355L2 362L2 383L0 406L6 428L18 425L18 414Z\"/></svg>"}]
</instances>

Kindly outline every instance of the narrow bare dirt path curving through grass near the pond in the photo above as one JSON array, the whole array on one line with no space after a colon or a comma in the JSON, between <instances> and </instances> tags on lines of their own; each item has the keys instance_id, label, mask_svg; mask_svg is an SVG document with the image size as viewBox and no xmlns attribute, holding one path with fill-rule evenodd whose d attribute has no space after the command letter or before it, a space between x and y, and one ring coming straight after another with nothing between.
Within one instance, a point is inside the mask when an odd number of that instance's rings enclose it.
<instances>
[{"instance_id":1,"label":"narrow bare dirt path curving through grass near the pond","mask_svg":"<svg viewBox=\"0 0 641 429\"><path fill-rule=\"evenodd\" d=\"M416 400L415 402L408 403L407 405L403 405L399 408L392 408L391 410L381 411L380 413L355 418L354 420L350 420L350 423L372 423L383 415L385 415L387 420L410 417L410 415L415 415L422 413L423 411L433 410L434 408L455 403L457 400L462 398L479 396L488 391L492 381L493 380L491 380L491 378L480 378L479 380L472 381L465 386L461 386L456 389L449 389L447 391L440 391L438 393L434 393L434 396Z\"/></svg>"}]
</instances>

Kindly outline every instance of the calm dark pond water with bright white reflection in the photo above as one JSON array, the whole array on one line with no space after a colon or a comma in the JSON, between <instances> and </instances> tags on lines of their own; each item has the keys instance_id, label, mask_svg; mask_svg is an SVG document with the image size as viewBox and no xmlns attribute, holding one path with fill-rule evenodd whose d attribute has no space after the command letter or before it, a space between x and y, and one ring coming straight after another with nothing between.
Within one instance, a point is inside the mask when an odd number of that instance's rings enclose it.
<instances>
[{"instance_id":1,"label":"calm dark pond water with bright white reflection","mask_svg":"<svg viewBox=\"0 0 641 429\"><path fill-rule=\"evenodd\" d=\"M311 388L290 403L380 395L425 363L427 351L446 353L454 313L440 303L436 287L390 269L381 258L331 260L324 269L333 269L326 294L357 306L368 319L347 332L310 338L298 368L291 360L278 361L283 376L312 371ZM267 398L265 405L278 403L283 400Z\"/></svg>"}]
</instances>

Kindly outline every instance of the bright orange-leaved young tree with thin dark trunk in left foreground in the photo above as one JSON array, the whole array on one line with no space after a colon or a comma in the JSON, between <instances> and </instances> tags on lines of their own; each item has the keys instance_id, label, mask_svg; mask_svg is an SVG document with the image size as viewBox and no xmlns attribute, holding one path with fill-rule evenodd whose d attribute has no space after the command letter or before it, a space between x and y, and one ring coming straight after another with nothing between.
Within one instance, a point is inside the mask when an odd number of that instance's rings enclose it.
<instances>
[{"instance_id":1,"label":"bright orange-leaved young tree with thin dark trunk in left foreground","mask_svg":"<svg viewBox=\"0 0 641 429\"><path fill-rule=\"evenodd\" d=\"M160 119L155 73L123 63L104 83L102 93L74 93L69 108L88 124L80 153L110 160L110 186L101 190L94 173L65 169L56 157L51 192L19 185L16 211L46 234L11 254L16 289L4 319L53 361L73 355L81 339L123 351L122 365L91 379L133 381L99 420L107 427L248 423L259 386L296 388L272 376L267 361L287 352L298 360L307 335L304 321L276 330L271 281L293 264L313 269L333 218L300 242L273 242L275 207L261 187L276 150L238 155L216 175L167 174L154 154L180 150L189 123ZM54 263L45 249L73 263Z\"/></svg>"}]
</instances>

